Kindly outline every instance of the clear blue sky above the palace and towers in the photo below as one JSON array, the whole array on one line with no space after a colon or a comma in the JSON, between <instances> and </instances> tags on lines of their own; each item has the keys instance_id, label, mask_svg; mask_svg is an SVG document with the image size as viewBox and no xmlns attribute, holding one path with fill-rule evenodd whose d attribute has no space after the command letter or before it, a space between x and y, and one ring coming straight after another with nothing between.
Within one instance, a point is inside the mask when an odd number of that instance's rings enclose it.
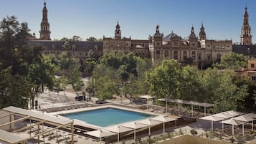
<instances>
[{"instance_id":1,"label":"clear blue sky above the palace and towers","mask_svg":"<svg viewBox=\"0 0 256 144\"><path fill-rule=\"evenodd\" d=\"M29 23L39 37L44 0L1 0L0 19L14 15ZM181 37L196 35L202 22L207 39L240 42L245 5L256 43L255 0L46 0L52 39L114 37L119 21L122 37L148 39L156 31L164 36L174 31Z\"/></svg>"}]
</instances>

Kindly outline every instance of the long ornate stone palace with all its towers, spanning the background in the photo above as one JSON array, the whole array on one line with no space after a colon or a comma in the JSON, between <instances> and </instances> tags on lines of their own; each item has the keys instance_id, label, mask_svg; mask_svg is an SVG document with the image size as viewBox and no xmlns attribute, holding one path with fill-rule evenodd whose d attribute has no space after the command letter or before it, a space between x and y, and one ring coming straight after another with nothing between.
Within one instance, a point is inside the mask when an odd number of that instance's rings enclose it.
<instances>
[{"instance_id":1,"label":"long ornate stone palace with all its towers, spanning the background","mask_svg":"<svg viewBox=\"0 0 256 144\"><path fill-rule=\"evenodd\" d=\"M256 46L252 45L247 8L245 8L241 29L241 43L233 45L232 40L207 39L203 24L198 37L194 32L194 27L191 27L189 37L186 39L174 34L174 32L164 37L157 26L155 34L149 39L131 39L131 37L122 37L119 22L115 26L115 36L103 37L103 42L51 41L47 12L44 2L40 37L39 39L32 37L29 44L41 44L44 47L44 54L60 54L64 50L69 50L81 62L85 62L90 57L101 57L107 52L133 52L138 57L151 58L152 62L177 59L182 64L193 64L199 69L204 69L214 62L219 62L220 57L229 52L247 54L250 57L256 56ZM69 46L68 49L63 48L65 44Z\"/></svg>"}]
</instances>

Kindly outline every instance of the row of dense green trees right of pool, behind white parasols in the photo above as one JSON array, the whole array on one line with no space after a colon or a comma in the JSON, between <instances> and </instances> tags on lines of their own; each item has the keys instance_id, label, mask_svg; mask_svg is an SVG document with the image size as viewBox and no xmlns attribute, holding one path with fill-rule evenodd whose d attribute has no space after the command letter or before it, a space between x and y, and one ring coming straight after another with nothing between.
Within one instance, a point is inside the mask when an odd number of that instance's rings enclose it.
<instances>
[{"instance_id":1,"label":"row of dense green trees right of pool, behind white parasols","mask_svg":"<svg viewBox=\"0 0 256 144\"><path fill-rule=\"evenodd\" d=\"M149 93L157 97L209 102L214 111L245 110L249 97L246 82L237 82L234 73L207 69L202 75L194 67L181 67L174 59L164 60L146 72ZM251 105L252 106L252 105Z\"/></svg>"}]
</instances>

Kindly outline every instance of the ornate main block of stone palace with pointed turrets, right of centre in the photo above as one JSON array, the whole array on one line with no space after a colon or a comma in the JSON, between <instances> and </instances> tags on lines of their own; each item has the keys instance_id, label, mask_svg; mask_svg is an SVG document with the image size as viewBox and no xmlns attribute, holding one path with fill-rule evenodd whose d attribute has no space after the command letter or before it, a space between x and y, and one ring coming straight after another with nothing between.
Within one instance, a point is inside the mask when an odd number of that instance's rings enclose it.
<instances>
[{"instance_id":1,"label":"ornate main block of stone palace with pointed turrets, right of centre","mask_svg":"<svg viewBox=\"0 0 256 144\"><path fill-rule=\"evenodd\" d=\"M153 61L177 59L178 62L193 64L199 69L218 62L223 54L232 52L232 40L208 40L203 25L199 32L199 38L194 33L194 27L191 27L188 39L182 39L173 32L163 37L157 26L156 33L150 39L149 49Z\"/></svg>"}]
</instances>

